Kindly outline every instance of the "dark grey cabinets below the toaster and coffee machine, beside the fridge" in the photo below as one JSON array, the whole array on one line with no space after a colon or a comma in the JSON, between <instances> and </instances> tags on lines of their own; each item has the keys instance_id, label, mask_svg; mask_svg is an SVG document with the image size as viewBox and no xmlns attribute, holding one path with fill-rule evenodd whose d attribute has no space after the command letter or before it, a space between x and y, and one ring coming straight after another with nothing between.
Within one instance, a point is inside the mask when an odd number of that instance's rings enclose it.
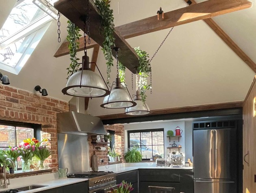
<instances>
[{"instance_id":1,"label":"dark grey cabinets below the toaster and coffee machine, beside the fridge","mask_svg":"<svg viewBox=\"0 0 256 193\"><path fill-rule=\"evenodd\" d=\"M139 193L148 193L148 186L173 187L174 193L193 193L193 170L139 169Z\"/></svg>"}]
</instances>

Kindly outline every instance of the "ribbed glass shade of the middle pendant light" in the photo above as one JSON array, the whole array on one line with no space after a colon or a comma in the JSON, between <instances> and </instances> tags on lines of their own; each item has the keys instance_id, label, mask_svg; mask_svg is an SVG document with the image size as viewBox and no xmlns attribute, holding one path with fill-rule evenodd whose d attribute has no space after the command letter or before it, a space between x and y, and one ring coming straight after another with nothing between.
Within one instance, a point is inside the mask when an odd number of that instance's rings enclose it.
<instances>
[{"instance_id":1,"label":"ribbed glass shade of the middle pendant light","mask_svg":"<svg viewBox=\"0 0 256 193\"><path fill-rule=\"evenodd\" d=\"M127 108L135 105L136 102L132 101L126 90L114 88L111 90L110 95L104 98L103 104L100 106L103 108Z\"/></svg>"}]
</instances>

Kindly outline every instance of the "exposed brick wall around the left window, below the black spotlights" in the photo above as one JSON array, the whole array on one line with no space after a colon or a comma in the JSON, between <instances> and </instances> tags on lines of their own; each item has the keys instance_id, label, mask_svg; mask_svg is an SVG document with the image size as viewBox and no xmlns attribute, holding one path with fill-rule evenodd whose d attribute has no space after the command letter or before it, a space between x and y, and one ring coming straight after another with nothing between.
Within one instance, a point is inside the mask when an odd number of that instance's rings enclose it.
<instances>
[{"instance_id":1,"label":"exposed brick wall around the left window, below the black spotlights","mask_svg":"<svg viewBox=\"0 0 256 193\"><path fill-rule=\"evenodd\" d=\"M69 111L68 102L0 85L0 119L42 125L42 137L50 139L49 167L58 168L56 113Z\"/></svg>"}]
</instances>

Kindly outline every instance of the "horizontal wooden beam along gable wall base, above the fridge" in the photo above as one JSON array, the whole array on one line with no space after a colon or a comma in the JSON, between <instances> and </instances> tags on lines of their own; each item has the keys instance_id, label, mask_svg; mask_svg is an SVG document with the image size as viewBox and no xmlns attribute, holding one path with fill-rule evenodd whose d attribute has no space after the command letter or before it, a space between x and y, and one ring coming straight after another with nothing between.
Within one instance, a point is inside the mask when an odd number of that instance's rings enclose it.
<instances>
[{"instance_id":1,"label":"horizontal wooden beam along gable wall base, above the fridge","mask_svg":"<svg viewBox=\"0 0 256 193\"><path fill-rule=\"evenodd\" d=\"M171 113L185 113L185 112L194 112L194 111L208 111L208 110L238 108L238 107L243 107L243 101L156 109L156 110L151 110L151 113L145 116L165 115L165 114L171 114ZM108 119L121 119L121 118L136 117L136 116L125 115L124 113L118 113L118 114L111 114L111 115L100 115L97 117L100 117L100 119L102 120L108 120Z\"/></svg>"}]
</instances>

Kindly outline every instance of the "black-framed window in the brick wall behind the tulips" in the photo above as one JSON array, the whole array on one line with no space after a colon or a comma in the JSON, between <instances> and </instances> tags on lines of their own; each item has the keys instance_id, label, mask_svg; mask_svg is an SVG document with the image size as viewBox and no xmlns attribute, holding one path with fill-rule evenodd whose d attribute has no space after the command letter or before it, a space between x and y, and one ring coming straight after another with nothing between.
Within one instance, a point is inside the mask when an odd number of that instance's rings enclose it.
<instances>
[{"instance_id":1,"label":"black-framed window in the brick wall behind the tulips","mask_svg":"<svg viewBox=\"0 0 256 193\"><path fill-rule=\"evenodd\" d=\"M41 125L38 124L0 121L0 149L18 146L24 139L36 137L36 129L40 130L39 128ZM21 168L20 158L17 159L17 163L18 168Z\"/></svg>"}]
</instances>

